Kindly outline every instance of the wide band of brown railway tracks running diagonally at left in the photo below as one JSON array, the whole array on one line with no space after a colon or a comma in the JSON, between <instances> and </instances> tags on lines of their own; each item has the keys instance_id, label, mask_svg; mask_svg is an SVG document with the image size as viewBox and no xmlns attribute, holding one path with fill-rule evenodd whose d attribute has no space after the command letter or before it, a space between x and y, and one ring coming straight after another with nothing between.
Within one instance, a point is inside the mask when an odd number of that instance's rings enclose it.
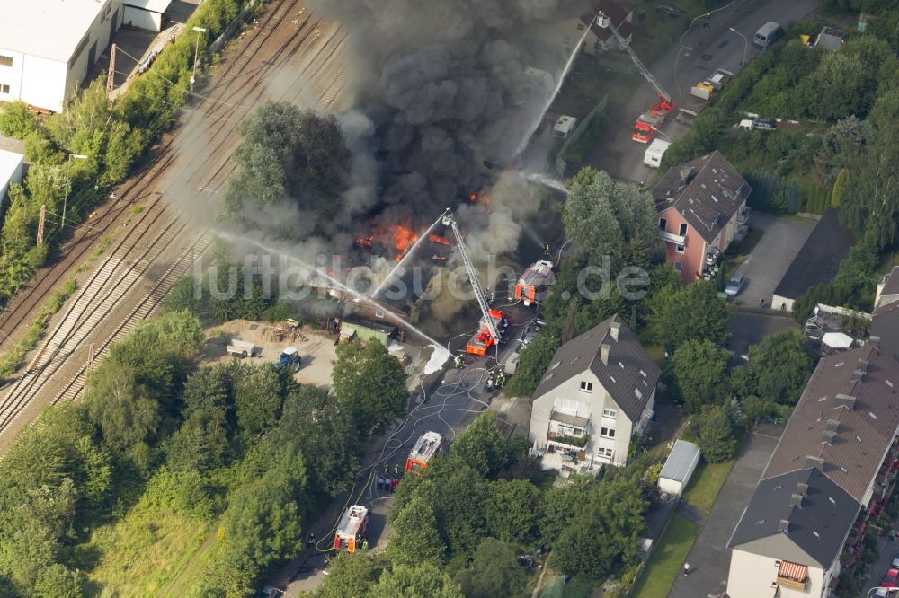
<instances>
[{"instance_id":1,"label":"wide band of brown railway tracks running diagonally at left","mask_svg":"<svg viewBox=\"0 0 899 598\"><path fill-rule=\"evenodd\" d=\"M239 55L228 66L228 73L235 75L211 87L209 95L183 119L178 131L165 136L155 148L144 170L117 189L118 198L101 208L102 214L76 229L64 258L0 313L0 335L9 335L67 276L68 269L93 249L93 241L120 223L130 207L138 202L145 204L139 218L130 216L137 222L120 235L108 257L69 303L65 317L46 337L31 364L0 398L0 436L14 432L13 424L35 397L52 396L49 402L53 404L75 400L84 389L88 355L102 358L115 340L155 312L177 279L190 271L190 257L201 255L209 247L211 235L200 232L174 258L172 248L188 229L180 214L165 205L165 194L180 184L185 189L197 189L202 181L213 184L214 189L223 184L233 170L230 153L236 145L234 126L266 95L264 81L300 53L299 59L294 60L300 64L291 69L296 80L279 98L272 99L297 97L299 90L314 84L325 66L325 75L335 74L325 84L319 101L329 106L339 96L345 72L331 65L345 36L339 26L323 26L305 10L298 9L300 4L300 0L288 0L261 17L259 25L245 36L243 47L235 49ZM279 36L266 44L271 33L283 27L285 19L296 11L301 17L292 22L297 25L296 34L287 39ZM322 35L323 31L326 35ZM191 128L197 126L203 135L189 135ZM219 160L222 155L226 156L223 161ZM173 167L177 169L179 156L185 156L188 165L182 169L181 177L167 180L165 174ZM151 268L159 268L160 264L165 264L164 274L153 279L147 292L139 295L151 278ZM117 320L123 311L127 315Z\"/></svg>"}]
</instances>

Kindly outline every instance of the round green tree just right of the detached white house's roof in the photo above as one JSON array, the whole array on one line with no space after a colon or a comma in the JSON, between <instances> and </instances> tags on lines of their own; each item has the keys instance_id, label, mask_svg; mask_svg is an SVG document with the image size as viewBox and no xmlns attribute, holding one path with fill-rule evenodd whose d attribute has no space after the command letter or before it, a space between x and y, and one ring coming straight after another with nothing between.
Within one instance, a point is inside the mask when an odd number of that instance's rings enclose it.
<instances>
[{"instance_id":1,"label":"round green tree just right of the detached white house's roof","mask_svg":"<svg viewBox=\"0 0 899 598\"><path fill-rule=\"evenodd\" d=\"M710 340L690 339L674 351L672 372L690 413L725 398L727 358Z\"/></svg>"}]
</instances>

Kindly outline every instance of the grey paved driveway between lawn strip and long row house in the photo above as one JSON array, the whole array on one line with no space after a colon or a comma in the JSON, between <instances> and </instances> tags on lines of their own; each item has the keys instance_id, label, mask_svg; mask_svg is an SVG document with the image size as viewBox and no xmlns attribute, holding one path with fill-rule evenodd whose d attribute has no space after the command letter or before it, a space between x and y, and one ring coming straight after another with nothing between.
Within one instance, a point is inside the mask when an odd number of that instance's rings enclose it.
<instances>
[{"instance_id":1,"label":"grey paved driveway between lawn strip and long row house","mask_svg":"<svg viewBox=\"0 0 899 598\"><path fill-rule=\"evenodd\" d=\"M752 491L778 444L781 432L779 427L766 427L762 433L752 434L743 445L734 469L727 476L712 512L708 514L705 527L687 555L690 575L677 576L668 598L717 598L724 594L730 567L730 550L725 546L752 497Z\"/></svg>"}]
</instances>

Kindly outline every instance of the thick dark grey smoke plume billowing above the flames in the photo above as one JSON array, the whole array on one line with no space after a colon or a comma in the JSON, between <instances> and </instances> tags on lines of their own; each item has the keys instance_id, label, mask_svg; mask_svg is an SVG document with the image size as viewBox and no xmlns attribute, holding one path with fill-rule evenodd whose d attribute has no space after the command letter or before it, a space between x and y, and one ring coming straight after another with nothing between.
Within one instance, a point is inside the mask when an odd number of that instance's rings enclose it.
<instances>
[{"instance_id":1,"label":"thick dark grey smoke plume billowing above the flames","mask_svg":"<svg viewBox=\"0 0 899 598\"><path fill-rule=\"evenodd\" d=\"M315 13L349 30L352 45L357 110L343 125L353 153L374 157L356 167L362 172L354 173L360 176L353 177L352 207L377 205L381 219L430 224L444 207L491 183L485 161L511 161L551 92L526 67L555 71L564 61L561 48L550 50L557 56L547 57L543 48L535 57L522 27L556 18L559 4L311 0ZM521 215L512 202L491 210L492 228L503 231ZM510 238L495 237L484 249L513 247Z\"/></svg>"}]
</instances>

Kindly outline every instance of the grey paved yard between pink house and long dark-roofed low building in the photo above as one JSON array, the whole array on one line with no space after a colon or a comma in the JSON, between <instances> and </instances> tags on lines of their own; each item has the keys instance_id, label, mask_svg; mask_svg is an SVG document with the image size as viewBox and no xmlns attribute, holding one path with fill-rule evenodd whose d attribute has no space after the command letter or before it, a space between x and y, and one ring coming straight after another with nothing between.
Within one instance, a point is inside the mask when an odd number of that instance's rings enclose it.
<instances>
[{"instance_id":1,"label":"grey paved yard between pink house and long dark-roofed low building","mask_svg":"<svg viewBox=\"0 0 899 598\"><path fill-rule=\"evenodd\" d=\"M748 283L734 301L758 307L759 299L764 297L765 306L770 307L774 288L802 249L816 223L814 220L753 213L749 224L761 229L763 234L740 268L737 268L748 279Z\"/></svg>"}]
</instances>

